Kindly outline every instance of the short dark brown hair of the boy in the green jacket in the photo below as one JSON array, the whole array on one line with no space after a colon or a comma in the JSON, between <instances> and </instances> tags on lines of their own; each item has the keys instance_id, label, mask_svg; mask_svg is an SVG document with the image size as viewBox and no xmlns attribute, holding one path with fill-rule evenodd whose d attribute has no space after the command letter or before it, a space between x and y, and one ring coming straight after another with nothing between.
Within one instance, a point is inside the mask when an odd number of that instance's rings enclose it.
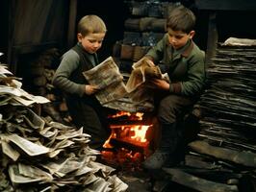
<instances>
[{"instance_id":1,"label":"short dark brown hair of the boy in the green jacket","mask_svg":"<svg viewBox=\"0 0 256 192\"><path fill-rule=\"evenodd\" d=\"M166 20L166 29L171 29L173 31L182 31L189 34L195 25L195 16L193 12L179 5L175 7L168 15Z\"/></svg>"}]
</instances>

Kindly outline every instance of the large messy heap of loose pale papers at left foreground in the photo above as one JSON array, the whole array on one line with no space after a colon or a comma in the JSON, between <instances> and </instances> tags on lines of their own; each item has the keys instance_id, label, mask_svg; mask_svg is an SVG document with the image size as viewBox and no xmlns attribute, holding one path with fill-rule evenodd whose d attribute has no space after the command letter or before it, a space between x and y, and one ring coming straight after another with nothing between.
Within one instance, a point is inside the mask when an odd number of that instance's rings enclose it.
<instances>
[{"instance_id":1,"label":"large messy heap of loose pale papers at left foreground","mask_svg":"<svg viewBox=\"0 0 256 192\"><path fill-rule=\"evenodd\" d=\"M0 191L125 191L115 169L96 161L83 128L40 117L47 99L22 90L0 65Z\"/></svg>"}]
</instances>

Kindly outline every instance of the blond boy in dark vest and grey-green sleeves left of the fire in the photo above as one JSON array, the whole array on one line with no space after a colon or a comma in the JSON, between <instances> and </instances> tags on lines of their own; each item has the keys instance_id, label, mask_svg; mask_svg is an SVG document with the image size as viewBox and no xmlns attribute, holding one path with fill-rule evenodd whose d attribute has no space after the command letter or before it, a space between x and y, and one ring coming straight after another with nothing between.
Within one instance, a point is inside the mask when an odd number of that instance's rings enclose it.
<instances>
[{"instance_id":1,"label":"blond boy in dark vest and grey-green sleeves left of the fire","mask_svg":"<svg viewBox=\"0 0 256 192\"><path fill-rule=\"evenodd\" d=\"M94 96L98 88L90 85L82 73L99 63L96 52L102 46L106 32L106 25L100 17L84 16L78 23L78 42L64 53L53 78L53 84L65 93L73 123L91 135L90 148L96 150L101 149L110 131L103 107Z\"/></svg>"}]
</instances>

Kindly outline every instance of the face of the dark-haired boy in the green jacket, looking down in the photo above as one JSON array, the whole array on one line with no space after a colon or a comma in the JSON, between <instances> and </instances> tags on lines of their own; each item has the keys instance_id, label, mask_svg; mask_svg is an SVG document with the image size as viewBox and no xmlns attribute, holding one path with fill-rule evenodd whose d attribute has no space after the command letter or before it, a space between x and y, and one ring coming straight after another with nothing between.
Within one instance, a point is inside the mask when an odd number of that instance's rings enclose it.
<instances>
[{"instance_id":1,"label":"face of the dark-haired boy in the green jacket, looking down","mask_svg":"<svg viewBox=\"0 0 256 192\"><path fill-rule=\"evenodd\" d=\"M171 29L167 29L167 34L168 34L168 41L171 44L171 46L174 49L180 49L186 43L188 42L189 39L194 36L194 31L191 31L189 34L184 33L182 31L173 31Z\"/></svg>"}]
</instances>

